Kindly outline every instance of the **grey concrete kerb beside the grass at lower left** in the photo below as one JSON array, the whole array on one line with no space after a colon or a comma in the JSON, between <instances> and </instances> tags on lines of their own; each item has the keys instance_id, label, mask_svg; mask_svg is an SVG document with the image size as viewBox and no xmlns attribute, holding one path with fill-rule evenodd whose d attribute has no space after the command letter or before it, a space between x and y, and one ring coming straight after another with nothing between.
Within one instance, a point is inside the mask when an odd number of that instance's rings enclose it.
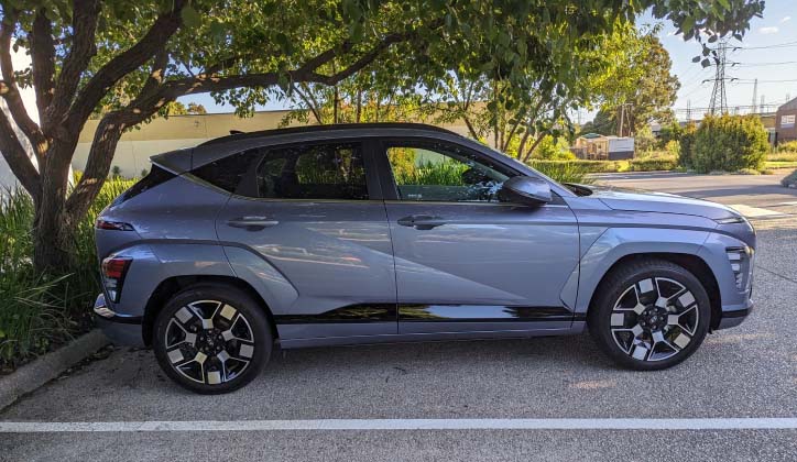
<instances>
[{"instance_id":1,"label":"grey concrete kerb beside the grass at lower left","mask_svg":"<svg viewBox=\"0 0 797 462\"><path fill-rule=\"evenodd\" d=\"M21 396L56 378L66 369L86 359L108 343L109 341L105 334L95 329L58 350L23 365L15 372L0 377L0 410L12 405Z\"/></svg>"}]
</instances>

